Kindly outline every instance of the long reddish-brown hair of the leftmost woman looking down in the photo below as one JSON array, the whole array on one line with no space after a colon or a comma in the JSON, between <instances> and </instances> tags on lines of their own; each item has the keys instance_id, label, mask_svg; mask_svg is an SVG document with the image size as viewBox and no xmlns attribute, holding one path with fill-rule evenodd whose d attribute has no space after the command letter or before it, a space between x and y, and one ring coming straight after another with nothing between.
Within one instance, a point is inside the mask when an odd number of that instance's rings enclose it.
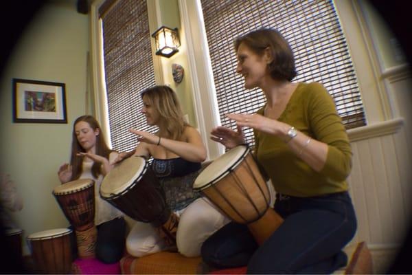
<instances>
[{"instance_id":1,"label":"long reddish-brown hair of the leftmost woman looking down","mask_svg":"<svg viewBox=\"0 0 412 275\"><path fill-rule=\"evenodd\" d=\"M102 131L100 129L99 122L93 118L91 115L82 115L79 118L77 118L74 123L73 123L73 133L71 137L71 157L70 157L70 164L73 166L73 174L71 175L71 180L78 179L80 175L82 175L83 169L82 169L82 164L83 164L83 159L84 156L78 156L76 155L79 152L85 152L84 148L80 145L78 142L77 136L76 136L76 124L78 122L87 122L91 129L93 131L96 131L96 129L99 129L99 134L96 136L96 144L95 144L95 154L96 155L101 155L102 157L106 157L108 159L108 155L113 152L110 148L108 148L106 141L104 140L104 137L102 135ZM93 177L98 178L99 175L102 173L101 171L101 165L97 162L93 163L93 166L91 166L91 174Z\"/></svg>"}]
</instances>

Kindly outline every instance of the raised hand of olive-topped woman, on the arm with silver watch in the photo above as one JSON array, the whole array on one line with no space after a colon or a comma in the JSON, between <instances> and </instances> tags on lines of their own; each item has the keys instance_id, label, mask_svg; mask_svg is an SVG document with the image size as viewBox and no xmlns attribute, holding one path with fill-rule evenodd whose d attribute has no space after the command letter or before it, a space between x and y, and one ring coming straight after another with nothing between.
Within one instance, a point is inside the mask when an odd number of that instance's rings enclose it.
<instances>
[{"instance_id":1,"label":"raised hand of olive-topped woman, on the arm with silver watch","mask_svg":"<svg viewBox=\"0 0 412 275\"><path fill-rule=\"evenodd\" d=\"M228 113L226 116L231 120L235 120L239 126L253 128L272 135L273 123L279 123L277 120L266 118L258 113L253 113L253 115L249 113Z\"/></svg>"}]
</instances>

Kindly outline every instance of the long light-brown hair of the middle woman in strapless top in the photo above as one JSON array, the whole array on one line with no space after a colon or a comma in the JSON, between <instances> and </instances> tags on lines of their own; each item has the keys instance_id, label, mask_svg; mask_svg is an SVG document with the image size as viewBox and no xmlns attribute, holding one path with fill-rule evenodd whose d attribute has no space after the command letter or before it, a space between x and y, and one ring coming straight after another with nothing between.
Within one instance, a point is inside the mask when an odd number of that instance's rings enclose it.
<instances>
[{"instance_id":1,"label":"long light-brown hair of the middle woman in strapless top","mask_svg":"<svg viewBox=\"0 0 412 275\"><path fill-rule=\"evenodd\" d=\"M185 126L190 126L190 124L183 120L183 111L174 91L168 86L157 85L142 91L141 98L146 98L150 105L159 112L161 120L167 121L165 123L166 137L179 140Z\"/></svg>"}]
</instances>

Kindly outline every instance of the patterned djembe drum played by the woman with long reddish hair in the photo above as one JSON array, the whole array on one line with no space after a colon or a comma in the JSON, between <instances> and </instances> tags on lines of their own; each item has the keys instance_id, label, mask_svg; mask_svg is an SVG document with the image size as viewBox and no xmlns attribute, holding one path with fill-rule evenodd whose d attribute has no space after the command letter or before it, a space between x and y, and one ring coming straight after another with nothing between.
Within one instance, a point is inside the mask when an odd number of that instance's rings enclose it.
<instances>
[{"instance_id":1,"label":"patterned djembe drum played by the woman with long reddish hair","mask_svg":"<svg viewBox=\"0 0 412 275\"><path fill-rule=\"evenodd\" d=\"M95 257L97 230L95 217L95 182L77 179L57 186L53 195L76 232L78 255L81 259Z\"/></svg>"}]
</instances>

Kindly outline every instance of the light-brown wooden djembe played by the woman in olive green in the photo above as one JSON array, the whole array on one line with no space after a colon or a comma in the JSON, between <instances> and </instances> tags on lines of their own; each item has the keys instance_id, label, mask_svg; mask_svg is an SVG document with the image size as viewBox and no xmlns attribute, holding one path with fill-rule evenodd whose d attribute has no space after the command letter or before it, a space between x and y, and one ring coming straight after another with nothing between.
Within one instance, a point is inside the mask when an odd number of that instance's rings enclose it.
<instances>
[{"instance_id":1,"label":"light-brown wooden djembe played by the woman in olive green","mask_svg":"<svg viewBox=\"0 0 412 275\"><path fill-rule=\"evenodd\" d=\"M283 222L269 207L268 186L247 145L236 146L211 162L193 188L203 192L227 217L247 224L259 245Z\"/></svg>"}]
</instances>

